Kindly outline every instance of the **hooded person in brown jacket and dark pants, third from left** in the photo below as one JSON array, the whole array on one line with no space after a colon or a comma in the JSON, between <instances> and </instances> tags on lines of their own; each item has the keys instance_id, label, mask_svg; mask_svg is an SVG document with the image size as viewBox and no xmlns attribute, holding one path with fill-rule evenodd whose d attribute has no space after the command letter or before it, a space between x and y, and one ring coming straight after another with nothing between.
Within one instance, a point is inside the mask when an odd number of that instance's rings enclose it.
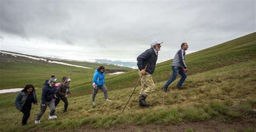
<instances>
[{"instance_id":1,"label":"hooded person in brown jacket and dark pants, third from left","mask_svg":"<svg viewBox=\"0 0 256 132\"><path fill-rule=\"evenodd\" d=\"M55 93L55 107L59 104L59 101L62 100L64 102L64 112L67 112L68 109L68 96L71 94L69 91L69 83L71 79L70 77L63 77L62 78L62 83L59 84L57 87L57 91Z\"/></svg>"}]
</instances>

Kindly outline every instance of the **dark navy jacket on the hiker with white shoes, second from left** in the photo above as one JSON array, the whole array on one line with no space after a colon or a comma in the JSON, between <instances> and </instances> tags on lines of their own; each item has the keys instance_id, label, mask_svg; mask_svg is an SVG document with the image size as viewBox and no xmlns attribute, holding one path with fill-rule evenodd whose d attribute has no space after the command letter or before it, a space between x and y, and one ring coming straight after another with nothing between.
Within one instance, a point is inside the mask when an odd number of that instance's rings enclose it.
<instances>
[{"instance_id":1,"label":"dark navy jacket on the hiker with white shoes, second from left","mask_svg":"<svg viewBox=\"0 0 256 132\"><path fill-rule=\"evenodd\" d=\"M50 102L54 97L54 93L55 93L54 86L50 87L49 80L46 80L44 82L44 86L42 89L42 98L41 98L42 104L45 104L45 102Z\"/></svg>"}]
</instances>

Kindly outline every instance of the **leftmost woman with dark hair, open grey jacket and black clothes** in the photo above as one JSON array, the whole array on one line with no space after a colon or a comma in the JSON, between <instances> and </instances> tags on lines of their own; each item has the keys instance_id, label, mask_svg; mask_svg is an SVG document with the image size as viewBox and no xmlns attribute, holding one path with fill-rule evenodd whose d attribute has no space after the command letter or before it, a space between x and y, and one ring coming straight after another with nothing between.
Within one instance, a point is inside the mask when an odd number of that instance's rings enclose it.
<instances>
[{"instance_id":1,"label":"leftmost woman with dark hair, open grey jacket and black clothes","mask_svg":"<svg viewBox=\"0 0 256 132\"><path fill-rule=\"evenodd\" d=\"M36 91L33 85L28 84L15 98L16 108L23 113L22 126L25 126L29 119L32 102L37 105Z\"/></svg>"}]
</instances>

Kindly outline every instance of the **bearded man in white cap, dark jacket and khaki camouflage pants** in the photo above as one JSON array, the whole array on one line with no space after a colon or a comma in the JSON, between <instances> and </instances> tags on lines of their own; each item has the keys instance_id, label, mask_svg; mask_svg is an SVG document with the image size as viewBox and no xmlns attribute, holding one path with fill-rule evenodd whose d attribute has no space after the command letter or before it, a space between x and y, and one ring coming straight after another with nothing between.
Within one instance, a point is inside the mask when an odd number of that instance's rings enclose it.
<instances>
[{"instance_id":1,"label":"bearded man in white cap, dark jacket and khaki camouflage pants","mask_svg":"<svg viewBox=\"0 0 256 132\"><path fill-rule=\"evenodd\" d=\"M139 92L139 106L142 107L150 106L150 104L148 104L145 99L156 88L151 75L154 73L154 69L156 68L157 56L161 47L161 43L163 42L156 39L152 40L150 43L151 48L147 49L144 53L137 57L139 76L142 76L142 79L140 80L142 83L142 90ZM147 69L144 69L146 65Z\"/></svg>"}]
</instances>

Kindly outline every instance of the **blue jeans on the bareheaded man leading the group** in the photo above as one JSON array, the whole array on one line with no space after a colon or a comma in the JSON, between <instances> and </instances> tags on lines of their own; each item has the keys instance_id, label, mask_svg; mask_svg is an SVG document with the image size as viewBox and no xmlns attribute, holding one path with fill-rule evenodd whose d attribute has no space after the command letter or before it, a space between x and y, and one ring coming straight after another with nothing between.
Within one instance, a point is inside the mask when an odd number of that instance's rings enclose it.
<instances>
[{"instance_id":1,"label":"blue jeans on the bareheaded man leading the group","mask_svg":"<svg viewBox=\"0 0 256 132\"><path fill-rule=\"evenodd\" d=\"M172 77L166 82L165 86L169 86L177 78L178 73L181 75L181 78L177 86L181 86L187 78L187 74L183 71L183 68L174 66L172 66Z\"/></svg>"}]
</instances>

